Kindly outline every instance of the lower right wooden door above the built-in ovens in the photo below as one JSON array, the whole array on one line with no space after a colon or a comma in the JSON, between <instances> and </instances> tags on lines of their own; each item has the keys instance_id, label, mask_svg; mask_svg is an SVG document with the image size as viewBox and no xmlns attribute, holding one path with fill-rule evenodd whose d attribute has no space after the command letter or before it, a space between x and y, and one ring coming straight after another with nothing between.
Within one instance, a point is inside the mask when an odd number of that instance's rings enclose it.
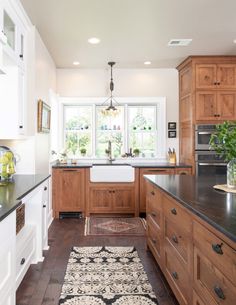
<instances>
[{"instance_id":1,"label":"lower right wooden door above the built-in ovens","mask_svg":"<svg viewBox=\"0 0 236 305\"><path fill-rule=\"evenodd\" d=\"M235 92L218 92L217 105L219 120L235 120L236 119L236 94Z\"/></svg>"}]
</instances>

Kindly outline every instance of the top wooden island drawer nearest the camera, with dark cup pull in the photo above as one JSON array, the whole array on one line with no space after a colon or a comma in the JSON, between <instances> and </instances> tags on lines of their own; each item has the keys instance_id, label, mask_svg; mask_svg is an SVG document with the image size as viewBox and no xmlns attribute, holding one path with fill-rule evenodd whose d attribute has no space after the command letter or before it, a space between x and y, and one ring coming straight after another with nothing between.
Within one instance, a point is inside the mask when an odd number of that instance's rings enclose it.
<instances>
[{"instance_id":1,"label":"top wooden island drawer nearest the camera, with dark cup pull","mask_svg":"<svg viewBox=\"0 0 236 305\"><path fill-rule=\"evenodd\" d=\"M200 223L193 223L194 244L229 279L236 279L236 251ZM234 280L235 283L235 280Z\"/></svg>"}]
</instances>

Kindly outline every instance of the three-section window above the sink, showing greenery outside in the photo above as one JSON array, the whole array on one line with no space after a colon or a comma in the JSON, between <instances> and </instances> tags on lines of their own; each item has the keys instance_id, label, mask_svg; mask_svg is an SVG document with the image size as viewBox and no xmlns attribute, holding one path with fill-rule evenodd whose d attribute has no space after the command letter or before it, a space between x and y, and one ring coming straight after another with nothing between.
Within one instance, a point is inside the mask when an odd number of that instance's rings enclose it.
<instances>
[{"instance_id":1,"label":"three-section window above the sink, showing greenery outside","mask_svg":"<svg viewBox=\"0 0 236 305\"><path fill-rule=\"evenodd\" d=\"M131 148L140 157L165 158L165 98L122 98L113 115L96 105L98 100L101 104L101 98L93 98L93 104L88 98L73 99L70 105L62 99L63 143L70 158L106 158L109 140L115 158Z\"/></svg>"}]
</instances>

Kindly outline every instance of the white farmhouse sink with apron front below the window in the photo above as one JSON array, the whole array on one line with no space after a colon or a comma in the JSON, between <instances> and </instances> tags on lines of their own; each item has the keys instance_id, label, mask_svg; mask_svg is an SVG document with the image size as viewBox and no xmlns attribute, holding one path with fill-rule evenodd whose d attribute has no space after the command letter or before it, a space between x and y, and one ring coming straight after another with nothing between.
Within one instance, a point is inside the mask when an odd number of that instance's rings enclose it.
<instances>
[{"instance_id":1,"label":"white farmhouse sink with apron front below the window","mask_svg":"<svg viewBox=\"0 0 236 305\"><path fill-rule=\"evenodd\" d=\"M93 165L91 182L134 182L134 168L130 165Z\"/></svg>"}]
</instances>

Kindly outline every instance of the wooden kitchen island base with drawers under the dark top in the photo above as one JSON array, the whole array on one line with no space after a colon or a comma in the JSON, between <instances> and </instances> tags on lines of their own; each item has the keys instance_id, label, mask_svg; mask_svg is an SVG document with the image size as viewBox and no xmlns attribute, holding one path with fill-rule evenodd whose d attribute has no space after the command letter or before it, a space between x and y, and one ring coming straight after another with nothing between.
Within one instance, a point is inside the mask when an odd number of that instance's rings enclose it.
<instances>
[{"instance_id":1,"label":"wooden kitchen island base with drawers under the dark top","mask_svg":"<svg viewBox=\"0 0 236 305\"><path fill-rule=\"evenodd\" d=\"M181 305L232 305L236 243L147 182L147 246Z\"/></svg>"}]
</instances>

